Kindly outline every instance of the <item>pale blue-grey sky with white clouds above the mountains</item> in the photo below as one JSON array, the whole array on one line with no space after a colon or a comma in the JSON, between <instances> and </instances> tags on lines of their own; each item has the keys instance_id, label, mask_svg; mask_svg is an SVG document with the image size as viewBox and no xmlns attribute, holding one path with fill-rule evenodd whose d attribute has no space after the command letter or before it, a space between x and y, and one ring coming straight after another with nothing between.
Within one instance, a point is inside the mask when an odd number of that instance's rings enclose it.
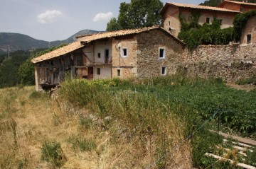
<instances>
[{"instance_id":1,"label":"pale blue-grey sky with white clouds above the mountains","mask_svg":"<svg viewBox=\"0 0 256 169\"><path fill-rule=\"evenodd\" d=\"M200 4L204 0L161 0ZM0 0L0 33L21 33L38 40L65 40L80 30L106 30L121 2L130 0Z\"/></svg>"}]
</instances>

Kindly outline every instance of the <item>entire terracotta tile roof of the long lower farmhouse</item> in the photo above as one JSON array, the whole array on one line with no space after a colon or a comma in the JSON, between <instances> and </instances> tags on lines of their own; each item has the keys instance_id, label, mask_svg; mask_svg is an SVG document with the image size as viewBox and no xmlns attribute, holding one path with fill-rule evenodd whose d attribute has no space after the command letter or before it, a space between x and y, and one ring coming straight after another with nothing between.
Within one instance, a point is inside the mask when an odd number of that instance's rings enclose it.
<instances>
[{"instance_id":1,"label":"entire terracotta tile roof of the long lower farmhouse","mask_svg":"<svg viewBox=\"0 0 256 169\"><path fill-rule=\"evenodd\" d=\"M149 28L139 28L139 29L133 29L133 30L117 30L114 32L105 32L105 33L96 33L92 35L80 35L78 36L77 40L78 42L73 42L70 45L67 45L65 47L60 47L59 49L55 49L52 52L48 52L47 54L43 54L40 57L36 57L31 60L32 63L36 64L38 62L42 62L48 59L53 59L55 57L60 57L64 54L73 52L76 49L80 49L81 47L84 47L85 44L93 42L95 40L100 40L100 39L105 39L105 38L110 38L110 37L120 37L124 35L132 35L132 34L137 34L137 33L142 33L148 30L154 30L154 29L160 29L170 35L171 37L174 38L174 40L180 42L182 45L185 45L184 42L181 40L178 40L177 37L174 37L174 35L171 35L171 33L167 32L163 28L159 26L153 26Z\"/></svg>"}]
</instances>

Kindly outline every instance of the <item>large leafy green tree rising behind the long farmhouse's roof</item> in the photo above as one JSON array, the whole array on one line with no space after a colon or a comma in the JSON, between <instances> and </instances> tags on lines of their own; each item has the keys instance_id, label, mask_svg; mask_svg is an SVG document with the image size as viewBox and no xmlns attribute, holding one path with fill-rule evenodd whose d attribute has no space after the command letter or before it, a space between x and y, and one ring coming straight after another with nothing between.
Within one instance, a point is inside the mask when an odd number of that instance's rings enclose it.
<instances>
[{"instance_id":1,"label":"large leafy green tree rising behind the long farmhouse's roof","mask_svg":"<svg viewBox=\"0 0 256 169\"><path fill-rule=\"evenodd\" d=\"M163 3L160 0L132 0L129 4L122 2L118 18L112 18L107 23L107 31L161 25L162 8Z\"/></svg>"}]
</instances>

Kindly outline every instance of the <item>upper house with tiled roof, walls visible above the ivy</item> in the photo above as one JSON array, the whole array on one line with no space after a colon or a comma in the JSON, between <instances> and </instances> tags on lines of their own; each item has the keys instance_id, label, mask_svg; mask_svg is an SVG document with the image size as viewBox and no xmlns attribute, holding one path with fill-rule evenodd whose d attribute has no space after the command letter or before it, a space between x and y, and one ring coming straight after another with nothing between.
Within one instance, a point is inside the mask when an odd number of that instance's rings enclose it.
<instances>
[{"instance_id":1,"label":"upper house with tiled roof, walls visible above the ivy","mask_svg":"<svg viewBox=\"0 0 256 169\"><path fill-rule=\"evenodd\" d=\"M228 8L166 3L161 11L161 15L164 19L164 29L169 31L175 37L178 37L178 33L181 32L180 16L185 18L186 21L190 21L191 13L193 12L201 14L198 19L200 25L203 25L204 23L211 24L214 18L217 18L221 22L220 28L233 27L233 19L235 18L235 15L241 13L240 11Z\"/></svg>"}]
</instances>

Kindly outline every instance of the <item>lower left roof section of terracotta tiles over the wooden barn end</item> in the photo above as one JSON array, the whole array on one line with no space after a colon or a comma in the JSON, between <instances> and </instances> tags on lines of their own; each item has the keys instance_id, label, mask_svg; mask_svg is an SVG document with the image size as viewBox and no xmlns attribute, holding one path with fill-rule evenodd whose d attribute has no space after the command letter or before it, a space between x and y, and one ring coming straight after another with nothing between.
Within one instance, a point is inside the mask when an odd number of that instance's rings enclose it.
<instances>
[{"instance_id":1,"label":"lower left roof section of terracotta tiles over the wooden barn end","mask_svg":"<svg viewBox=\"0 0 256 169\"><path fill-rule=\"evenodd\" d=\"M52 58L55 58L55 57L60 57L64 54L68 54L70 52L73 52L76 49L80 49L83 46L84 45L81 45L80 42L73 42L73 43L70 43L67 46L60 47L60 48L55 49L51 52L48 52L47 54L43 54L40 57L36 57L36 58L32 59L31 62L33 64L36 64L36 63L42 62L44 60L52 59Z\"/></svg>"}]
</instances>

